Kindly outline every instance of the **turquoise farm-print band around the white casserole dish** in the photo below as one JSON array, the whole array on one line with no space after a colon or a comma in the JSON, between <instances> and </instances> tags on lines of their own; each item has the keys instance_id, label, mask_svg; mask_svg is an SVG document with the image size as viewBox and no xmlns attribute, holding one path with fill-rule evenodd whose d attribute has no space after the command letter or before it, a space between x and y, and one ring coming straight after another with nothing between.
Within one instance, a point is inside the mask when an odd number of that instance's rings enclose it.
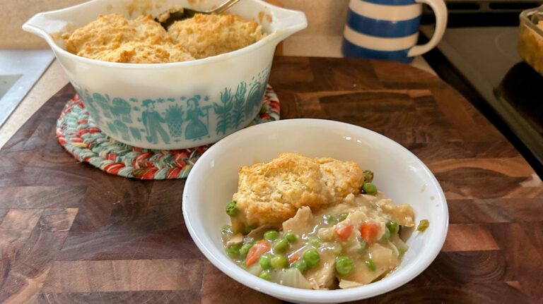
<instances>
[{"instance_id":1,"label":"turquoise farm-print band around the white casserole dish","mask_svg":"<svg viewBox=\"0 0 543 304\"><path fill-rule=\"evenodd\" d=\"M81 87L76 90L98 126L119 140L146 140L153 145L197 141L232 133L250 123L249 118L262 110L269 68L213 96L139 99L90 93Z\"/></svg>"}]
</instances>

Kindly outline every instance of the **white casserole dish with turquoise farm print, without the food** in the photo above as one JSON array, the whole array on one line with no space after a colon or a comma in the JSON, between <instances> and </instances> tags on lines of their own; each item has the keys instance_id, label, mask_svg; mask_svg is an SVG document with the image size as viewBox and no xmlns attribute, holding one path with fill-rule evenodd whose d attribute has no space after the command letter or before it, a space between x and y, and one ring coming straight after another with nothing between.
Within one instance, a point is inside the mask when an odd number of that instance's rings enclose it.
<instances>
[{"instance_id":1,"label":"white casserole dish with turquoise farm print, without the food","mask_svg":"<svg viewBox=\"0 0 543 304\"><path fill-rule=\"evenodd\" d=\"M229 9L257 20L269 34L255 44L205 59L134 64L86 59L64 49L60 37L98 14L156 16L175 5L209 9L224 0L93 0L38 13L23 30L44 38L83 99L91 118L119 142L150 149L206 145L240 130L260 110L276 45L307 26L299 11L242 0Z\"/></svg>"}]
</instances>

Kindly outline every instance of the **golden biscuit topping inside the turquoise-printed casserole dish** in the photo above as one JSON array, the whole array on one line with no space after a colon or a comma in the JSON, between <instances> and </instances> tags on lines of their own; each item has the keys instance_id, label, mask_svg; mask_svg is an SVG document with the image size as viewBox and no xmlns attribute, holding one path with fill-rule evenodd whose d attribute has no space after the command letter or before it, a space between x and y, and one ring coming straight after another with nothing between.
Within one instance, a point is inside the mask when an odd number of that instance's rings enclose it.
<instances>
[{"instance_id":1,"label":"golden biscuit topping inside the turquoise-printed casserole dish","mask_svg":"<svg viewBox=\"0 0 543 304\"><path fill-rule=\"evenodd\" d=\"M62 35L66 50L90 59L119 63L168 63L201 59L246 47L262 38L255 21L236 15L196 15L169 32L151 15L130 20L120 13Z\"/></svg>"}]
</instances>

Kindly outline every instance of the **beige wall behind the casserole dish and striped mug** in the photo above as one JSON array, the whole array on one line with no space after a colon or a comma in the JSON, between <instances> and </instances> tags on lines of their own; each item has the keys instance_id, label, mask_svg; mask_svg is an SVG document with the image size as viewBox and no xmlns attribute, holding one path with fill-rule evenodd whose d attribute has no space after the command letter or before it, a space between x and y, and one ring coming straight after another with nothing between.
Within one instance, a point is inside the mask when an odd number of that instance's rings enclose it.
<instances>
[{"instance_id":1,"label":"beige wall behind the casserole dish and striped mug","mask_svg":"<svg viewBox=\"0 0 543 304\"><path fill-rule=\"evenodd\" d=\"M34 35L21 30L21 25L35 13L73 6L86 0L0 0L0 48L43 48L47 44ZM286 54L300 54L307 50L313 52L336 51L345 22L346 7L349 0L269 0L286 8L304 11L308 16L307 30L298 33L284 43L282 51ZM310 44L310 45L308 45Z\"/></svg>"}]
</instances>

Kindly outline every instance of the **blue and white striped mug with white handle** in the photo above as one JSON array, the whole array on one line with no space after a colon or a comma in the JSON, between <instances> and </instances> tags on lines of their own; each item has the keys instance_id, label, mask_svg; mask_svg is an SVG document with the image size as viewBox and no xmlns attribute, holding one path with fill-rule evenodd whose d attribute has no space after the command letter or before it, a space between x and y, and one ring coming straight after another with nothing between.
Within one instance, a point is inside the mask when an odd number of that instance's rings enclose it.
<instances>
[{"instance_id":1,"label":"blue and white striped mug with white handle","mask_svg":"<svg viewBox=\"0 0 543 304\"><path fill-rule=\"evenodd\" d=\"M422 4L428 4L436 15L436 30L428 43L415 45ZM443 0L351 0L341 50L346 57L407 63L436 47L446 25Z\"/></svg>"}]
</instances>

